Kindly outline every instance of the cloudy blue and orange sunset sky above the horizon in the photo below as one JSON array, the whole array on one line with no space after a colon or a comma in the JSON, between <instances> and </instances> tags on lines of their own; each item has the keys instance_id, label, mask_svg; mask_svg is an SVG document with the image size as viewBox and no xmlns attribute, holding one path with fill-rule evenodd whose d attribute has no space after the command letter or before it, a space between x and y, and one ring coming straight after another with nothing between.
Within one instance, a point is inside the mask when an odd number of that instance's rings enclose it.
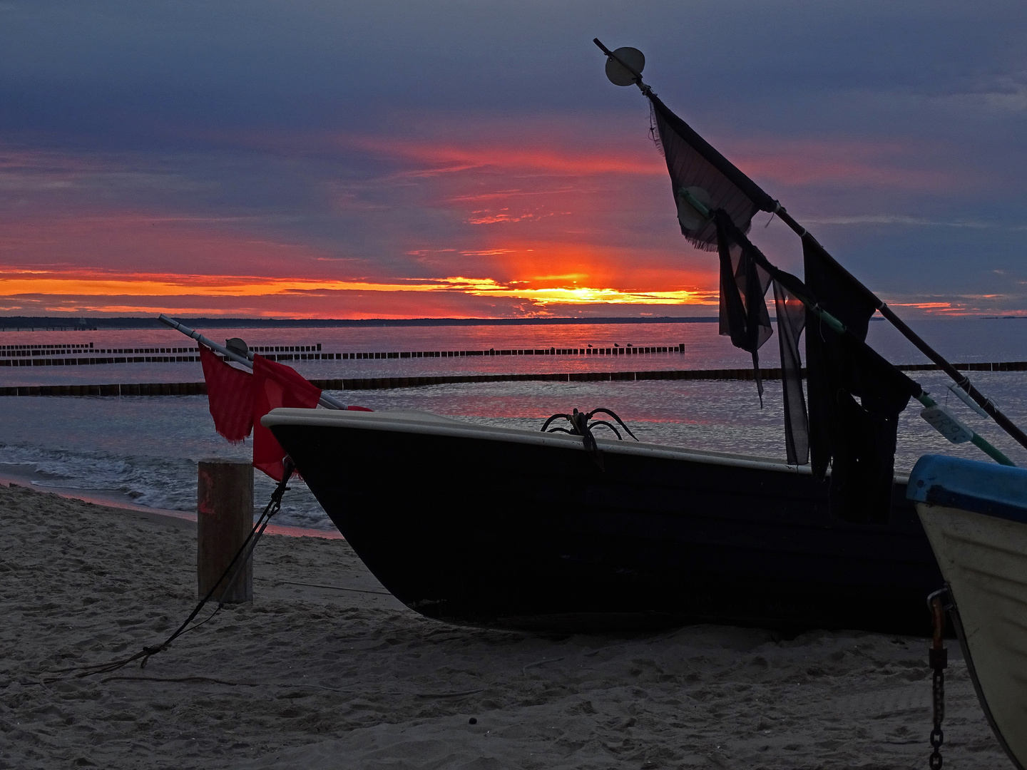
<instances>
[{"instance_id":1,"label":"cloudy blue and orange sunset sky above the horizon","mask_svg":"<svg viewBox=\"0 0 1027 770\"><path fill-rule=\"evenodd\" d=\"M1027 315L1022 0L0 1L0 314L715 314L594 37L902 315Z\"/></svg>"}]
</instances>

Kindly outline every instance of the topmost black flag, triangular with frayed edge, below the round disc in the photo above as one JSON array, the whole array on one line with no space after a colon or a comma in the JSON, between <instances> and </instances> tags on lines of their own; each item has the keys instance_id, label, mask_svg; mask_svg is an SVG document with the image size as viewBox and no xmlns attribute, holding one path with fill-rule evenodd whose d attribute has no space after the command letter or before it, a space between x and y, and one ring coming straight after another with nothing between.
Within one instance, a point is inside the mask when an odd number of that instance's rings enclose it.
<instances>
[{"instance_id":1,"label":"topmost black flag, triangular with frayed edge, below the round disc","mask_svg":"<svg viewBox=\"0 0 1027 770\"><path fill-rule=\"evenodd\" d=\"M749 232L753 216L772 211L776 202L749 177L692 130L654 94L647 93L652 114L659 130L659 143L667 170L671 175L671 191L678 206L678 222L682 234L698 248L717 248L717 228L712 219L701 216L681 193L689 193L710 210L723 210L743 233Z\"/></svg>"}]
</instances>

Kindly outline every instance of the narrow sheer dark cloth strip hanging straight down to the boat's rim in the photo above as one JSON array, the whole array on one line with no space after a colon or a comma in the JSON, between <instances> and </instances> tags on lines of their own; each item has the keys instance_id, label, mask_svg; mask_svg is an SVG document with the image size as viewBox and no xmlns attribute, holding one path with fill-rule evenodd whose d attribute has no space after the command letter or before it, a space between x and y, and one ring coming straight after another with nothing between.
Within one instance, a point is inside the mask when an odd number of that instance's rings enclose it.
<instances>
[{"instance_id":1,"label":"narrow sheer dark cloth strip hanging straight down to the boat's rim","mask_svg":"<svg viewBox=\"0 0 1027 770\"><path fill-rule=\"evenodd\" d=\"M789 465L809 462L809 420L802 396L802 360L799 335L806 325L806 307L776 280L773 299L781 348L781 382L785 391L785 452Z\"/></svg>"}]
</instances>

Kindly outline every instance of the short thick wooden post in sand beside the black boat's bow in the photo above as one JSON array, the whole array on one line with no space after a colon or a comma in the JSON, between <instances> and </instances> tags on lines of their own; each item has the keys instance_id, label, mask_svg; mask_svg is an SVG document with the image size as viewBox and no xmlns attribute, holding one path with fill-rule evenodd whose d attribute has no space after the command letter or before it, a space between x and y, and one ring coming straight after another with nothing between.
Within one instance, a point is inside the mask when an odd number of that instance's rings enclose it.
<instances>
[{"instance_id":1,"label":"short thick wooden post in sand beside the black boat's bow","mask_svg":"<svg viewBox=\"0 0 1027 770\"><path fill-rule=\"evenodd\" d=\"M238 460L200 460L196 484L196 577L205 596L242 547L254 522L254 467ZM236 563L238 567L238 563ZM252 555L212 596L217 602L253 602Z\"/></svg>"}]
</instances>

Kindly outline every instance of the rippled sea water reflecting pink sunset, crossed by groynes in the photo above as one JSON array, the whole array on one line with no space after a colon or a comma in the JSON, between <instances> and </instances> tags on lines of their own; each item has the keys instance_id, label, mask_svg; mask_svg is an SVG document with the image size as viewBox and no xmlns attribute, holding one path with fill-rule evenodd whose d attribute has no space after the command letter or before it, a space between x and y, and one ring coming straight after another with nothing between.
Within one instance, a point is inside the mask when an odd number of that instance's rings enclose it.
<instances>
[{"instance_id":1,"label":"rippled sea water reflecting pink sunset, crossed by groynes","mask_svg":"<svg viewBox=\"0 0 1027 770\"><path fill-rule=\"evenodd\" d=\"M954 362L1027 360L1027 321L928 321L917 331ZM309 346L326 352L393 352L677 346L681 353L644 355L474 356L292 361L308 378L414 377L447 374L621 372L660 369L740 369L748 353L718 335L716 323L575 324L567 326L378 326L337 329L216 330L218 341L241 337L251 346ZM897 363L926 359L886 322L871 324L868 340ZM192 341L167 331L6 332L2 344L92 342L94 349L186 347ZM777 365L776 340L761 351L761 365ZM1027 373L972 373L975 384L1015 422L1027 425ZM1027 451L990 421L948 394L938 372L912 373L937 400L947 401L967 424L1027 464ZM0 385L197 382L199 363L122 363L0 369ZM754 382L639 380L608 382L496 382L392 390L333 392L346 403L376 411L419 409L470 422L537 430L549 415L573 408L616 412L642 441L672 447L778 457L785 455L781 383L764 383L762 406ZM231 445L214 430L205 396L0 398L0 472L30 478L40 488L72 488L154 508L194 511L196 462L249 459L250 441ZM902 415L896 467L908 471L927 453L984 456L971 445L951 445L919 417L912 401ZM612 436L612 434L611 434ZM626 436L625 436L626 437ZM459 469L454 472L458 473ZM266 502L273 483L258 473L256 498ZM279 523L331 530L302 484L286 497Z\"/></svg>"}]
</instances>

